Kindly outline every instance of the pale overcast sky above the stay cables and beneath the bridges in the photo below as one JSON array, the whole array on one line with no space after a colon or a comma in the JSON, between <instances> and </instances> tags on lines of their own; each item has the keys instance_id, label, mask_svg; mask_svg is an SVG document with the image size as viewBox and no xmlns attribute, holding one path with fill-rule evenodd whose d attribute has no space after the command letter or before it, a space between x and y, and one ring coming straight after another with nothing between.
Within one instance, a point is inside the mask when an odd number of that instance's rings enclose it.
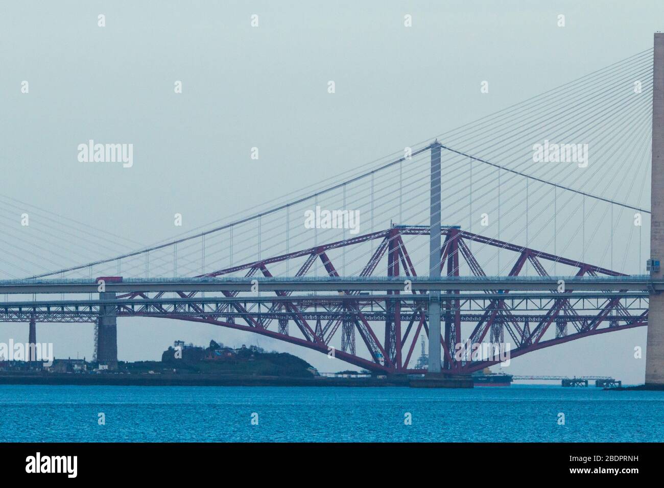
<instances>
[{"instance_id":1,"label":"pale overcast sky above the stay cables and beneath the bridges","mask_svg":"<svg viewBox=\"0 0 664 488\"><path fill-rule=\"evenodd\" d=\"M663 22L658 0L7 0L0 193L139 247L650 48ZM489 96L481 80L490 80ZM80 163L76 147L88 139L132 143L133 167ZM251 147L260 147L260 159L250 159ZM8 215L18 222L16 211ZM183 215L177 230L175 213ZM3 324L0 341L27 333L27 324ZM39 324L37 337L55 343L58 357L92 357L92 325ZM345 367L264 337L158 319L119 321L119 359L158 359L176 339L259 344L323 371ZM645 328L532 353L510 372L642 382L635 345L645 347Z\"/></svg>"}]
</instances>

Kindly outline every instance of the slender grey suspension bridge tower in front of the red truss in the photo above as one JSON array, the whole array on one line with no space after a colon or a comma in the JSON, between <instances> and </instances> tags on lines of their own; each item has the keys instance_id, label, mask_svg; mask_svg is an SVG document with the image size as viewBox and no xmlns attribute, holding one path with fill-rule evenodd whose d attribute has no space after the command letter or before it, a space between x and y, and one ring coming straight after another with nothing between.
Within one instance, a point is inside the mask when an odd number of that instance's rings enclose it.
<instances>
[{"instance_id":1,"label":"slender grey suspension bridge tower in front of the red truss","mask_svg":"<svg viewBox=\"0 0 664 488\"><path fill-rule=\"evenodd\" d=\"M431 145L429 278L440 278L440 143ZM440 374L440 291L429 292L429 374Z\"/></svg>"}]
</instances>

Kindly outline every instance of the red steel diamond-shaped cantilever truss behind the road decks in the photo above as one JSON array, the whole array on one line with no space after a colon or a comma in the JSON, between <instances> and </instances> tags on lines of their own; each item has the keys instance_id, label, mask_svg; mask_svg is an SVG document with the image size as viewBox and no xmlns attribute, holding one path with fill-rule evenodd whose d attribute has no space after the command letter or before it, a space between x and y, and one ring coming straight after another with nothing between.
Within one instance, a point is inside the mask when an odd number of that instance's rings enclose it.
<instances>
[{"instance_id":1,"label":"red steel diamond-shaped cantilever truss behind the road decks","mask_svg":"<svg viewBox=\"0 0 664 488\"><path fill-rule=\"evenodd\" d=\"M373 232L363 236L357 236L348 240L321 244L313 248L299 250L280 256L266 258L256 262L240 264L222 270L216 270L201 277L218 277L232 273L243 272L245 276L272 277L270 267L286 260L304 259L303 264L297 271L296 276L305 276L320 260L327 274L331 277L339 276L337 268L329 258L329 252L345 246L357 246L372 240L378 241L371 258L359 273L359 276L372 276L381 262L387 262L387 276L417 276L413 262L406 250L404 236L428 236L428 227L422 226L392 226L380 232ZM546 252L538 251L524 246L518 246L509 242L503 242L479 234L465 232L456 227L442 229L444 243L440 250L440 267L442 274L447 276L459 276L459 268L463 263L472 276L486 276L484 270L477 262L471 252L469 242L483 246L499 248L501 252L509 251L513 254L513 266L509 276L519 276L527 262L533 266L540 276L547 276L542 262L556 262L561 265L570 266L576 270L576 276L625 276L622 273L600 268L592 264L579 262L555 256ZM426 270L428 273L428 270ZM486 289L482 293L503 293L507 295L509 289ZM647 325L647 310L639 313L630 313L619 298L606 300L606 303L592 315L580 315L574 308L572 301L565 297L571 289L562 292L552 292L552 306L538 313L524 313L507 305L506 299L486 300L489 305L482 311L465 311L464 305L456 295L458 290L442 293L441 318L442 328L440 340L443 349L442 363L444 372L450 374L469 374L481 370L487 366L495 365L499 361L495 359L468 359L457 357L456 351L460 344L481 343L503 343L505 338L511 344L510 357L518 357L531 351L544 349L581 339L623 329L631 329ZM359 291L339 291L339 294L357 295L355 299L331 302L325 299L317 299L315 296L307 297L306 301L293 298L293 301L284 300L290 297L291 291L276 291L276 295L282 297L280 301L274 302L269 309L262 310L260 306L242 305L242 303L230 303L227 307L228 317L220 317L218 314L205 315L202 309L199 316L183 317L175 313L169 313L167 309L159 310L155 316L171 319L197 321L229 327L241 331L258 333L287 343L301 345L326 355L333 355L337 359L346 361L361 368L374 372L388 374L424 372L409 368L410 363L415 363L413 353L420 333L428 337L428 315L426 301L408 301L408 295L402 295L400 291L388 291L390 299L385 299L384 324L378 325L376 321L370 320L367 315L368 304L374 306L375 301L367 299ZM424 293L416 291L404 291L403 293ZM153 298L162 297L164 292L156 293ZM179 292L180 297L194 297L197 292ZM235 297L238 292L224 292L227 297ZM393 296L394 295L394 296ZM493 295L492 295L493 296ZM144 293L130 293L118 298L147 298ZM401 299L400 297L404 297ZM322 310L328 315L321 319L317 315L315 323L311 319L311 310ZM408 309L406 310L406 307ZM127 309L128 311L128 309ZM127 313L127 315L131 315ZM149 314L144 314L149 315ZM270 318L270 315L273 318ZM331 315L331 316L330 316ZM278 316L278 319L274 317ZM309 319L307 319L309 316ZM243 323L236 323L236 318ZM461 323L472 321L471 331L466 331L467 337L462 335ZM292 323L295 327L289 327ZM555 337L545 338L546 332L554 325ZM570 331L568 331L568 327ZM378 333L383 329L382 333ZM361 342L356 347L355 339L359 334ZM341 335L341 351L331 346L338 343ZM382 340L381 340L382 339Z\"/></svg>"}]
</instances>

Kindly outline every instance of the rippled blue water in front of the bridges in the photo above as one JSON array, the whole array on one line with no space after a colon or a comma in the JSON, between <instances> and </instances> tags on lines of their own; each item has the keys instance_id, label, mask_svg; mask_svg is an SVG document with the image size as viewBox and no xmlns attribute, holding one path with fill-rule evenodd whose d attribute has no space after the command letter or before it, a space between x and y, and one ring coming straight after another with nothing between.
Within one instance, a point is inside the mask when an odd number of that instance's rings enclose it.
<instances>
[{"instance_id":1,"label":"rippled blue water in front of the bridges","mask_svg":"<svg viewBox=\"0 0 664 488\"><path fill-rule=\"evenodd\" d=\"M0 442L19 441L663 442L664 392L1 385Z\"/></svg>"}]
</instances>

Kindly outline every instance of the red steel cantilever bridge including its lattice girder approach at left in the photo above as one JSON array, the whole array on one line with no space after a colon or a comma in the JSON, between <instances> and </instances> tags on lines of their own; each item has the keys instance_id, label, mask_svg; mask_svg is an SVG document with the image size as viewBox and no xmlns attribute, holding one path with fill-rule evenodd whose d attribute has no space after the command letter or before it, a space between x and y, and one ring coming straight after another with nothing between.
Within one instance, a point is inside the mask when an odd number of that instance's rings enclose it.
<instances>
[{"instance_id":1,"label":"red steel cantilever bridge including its lattice girder approach at left","mask_svg":"<svg viewBox=\"0 0 664 488\"><path fill-rule=\"evenodd\" d=\"M268 270L268 265L295 258L305 260L297 276L304 277L313 263L321 260L328 276L336 278L339 274L329 258L329 251L379 240L377 248L359 276L371 277L381 260L386 258L387 276L416 280L417 274L406 250L403 236L426 235L428 227L392 226L387 230L349 240L217 270L198 278L222 277L237 272L244 272L246 278L251 278L258 272L270 278L272 274ZM452 278L459 276L462 262L480 282L485 277L467 242L477 242L517 253L509 273L513 277L519 276L525 262L531 262L540 276L545 276L546 272L540 260L572 266L577 269L576 276L588 274L597 276L598 279L600 276L624 276L591 264L471 234L459 228L443 228L442 235L445 236L445 241L440 250L440 266L444 274ZM618 293L582 295L571 289L567 289L564 293L556 291L525 293L495 289L495 285L499 282L492 283L493 289L483 289L476 293L462 293L459 289L442 293L444 312L442 317L445 328L439 340L444 351L442 355L444 370L463 374L495 364L495 361L457 361L454 352L462 341L461 323L475 324L468 337L478 343L486 342L489 330L493 331L494 336L501 336L500 331L506 331L507 337L511 337L516 346L515 349L511 349L511 357L580 337L647 325L645 293L622 290ZM244 292L236 290L222 291L222 293L224 297L221 298L202 298L198 291L179 291L177 292L179 298L174 299L166 298L165 291L126 293L118 296L116 311L120 317L182 319L250 331L325 354L333 350L330 346L333 338L338 339L337 336L343 332L345 343L350 345L355 342L349 335L357 332L361 336L361 343L366 352L357 349L355 353L352 350L351 352L334 350L335 357L378 372L413 371L408 369L408 364L412 359L418 337L422 330L428 335L428 295L422 290L408 292L404 289L400 293L398 290L390 289L386 295L369 295L358 290L347 290L339 291L333 296L306 297L292 295L292 290L288 289L275 291L274 297L247 297L241 295ZM591 310L593 313L588 313ZM539 313L525 313L526 311ZM29 316L34 316L35 320L40 322L83 322L94 321L97 314L98 303L87 305L62 303L59 307L55 302L0 305L0 320L4 321L27 321ZM242 319L245 323L235 323L236 318ZM278 331L269 329L274 321L282 324ZM289 329L288 321L293 321L297 327ZM323 321L325 325L322 324ZM554 322L556 325L572 324L574 333L554 339L544 339L549 325ZM342 323L346 324L343 331L339 327ZM384 327L382 342L379 339L380 335L376 334L377 323L382 323ZM289 331L299 333L300 337Z\"/></svg>"}]
</instances>

